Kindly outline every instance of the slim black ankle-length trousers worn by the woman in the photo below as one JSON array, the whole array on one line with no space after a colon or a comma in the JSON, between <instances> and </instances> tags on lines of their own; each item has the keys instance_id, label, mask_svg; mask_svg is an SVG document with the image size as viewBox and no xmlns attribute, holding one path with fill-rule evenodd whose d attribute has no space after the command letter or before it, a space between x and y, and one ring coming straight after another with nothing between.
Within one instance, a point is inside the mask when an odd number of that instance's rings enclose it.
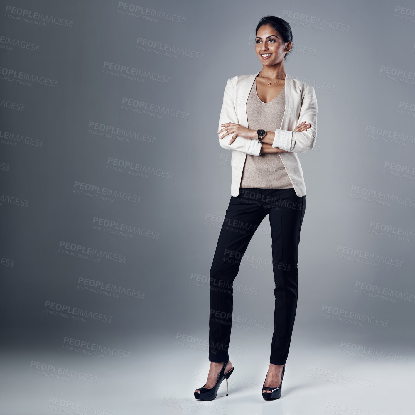
<instances>
[{"instance_id":1,"label":"slim black ankle-length trousers worn by the woman","mask_svg":"<svg viewBox=\"0 0 415 415\"><path fill-rule=\"evenodd\" d=\"M231 196L210 269L211 362L229 360L233 282L249 241L269 215L275 281L270 363L286 363L297 310L298 244L304 213L305 196L297 196L294 189L240 188L239 196Z\"/></svg>"}]
</instances>

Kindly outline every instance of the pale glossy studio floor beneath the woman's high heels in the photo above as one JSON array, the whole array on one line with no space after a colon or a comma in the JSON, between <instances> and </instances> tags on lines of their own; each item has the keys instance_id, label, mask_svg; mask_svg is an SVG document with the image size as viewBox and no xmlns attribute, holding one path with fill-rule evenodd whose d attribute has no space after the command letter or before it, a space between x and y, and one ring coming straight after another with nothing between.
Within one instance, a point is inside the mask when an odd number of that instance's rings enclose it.
<instances>
[{"instance_id":1,"label":"pale glossy studio floor beneath the woman's high heels","mask_svg":"<svg viewBox=\"0 0 415 415\"><path fill-rule=\"evenodd\" d=\"M415 365L410 351L386 344L383 357L374 361L369 360L369 347L354 356L340 343L322 346L318 337L307 339L299 333L292 339L282 397L265 401L261 386L268 367L271 334L258 327L249 331L232 333L232 342L240 349L230 354L235 369L229 378L229 396L224 381L217 398L210 402L193 397L193 391L204 385L209 367L204 339L178 334L135 340L112 338L105 345L113 349L103 356L65 349L60 344L61 334L56 337L60 343L46 341L55 347L47 351L44 347L31 349L28 341L24 351L2 351L1 413L415 413ZM99 342L103 344L101 339ZM127 359L123 352L131 352L131 357Z\"/></svg>"}]
</instances>

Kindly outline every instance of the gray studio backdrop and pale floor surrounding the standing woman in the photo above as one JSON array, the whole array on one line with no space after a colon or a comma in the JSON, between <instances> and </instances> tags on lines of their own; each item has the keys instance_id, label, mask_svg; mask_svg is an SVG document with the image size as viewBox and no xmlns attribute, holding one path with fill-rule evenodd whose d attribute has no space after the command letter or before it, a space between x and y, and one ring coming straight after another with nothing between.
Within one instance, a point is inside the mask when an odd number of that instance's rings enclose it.
<instances>
[{"instance_id":1,"label":"gray studio backdrop and pale floor surrounding the standing woman","mask_svg":"<svg viewBox=\"0 0 415 415\"><path fill-rule=\"evenodd\" d=\"M413 413L413 2L1 10L3 414ZM315 148L300 154L286 399L260 396L274 301L266 217L235 280L229 397L202 406L208 276L231 196L217 123L227 79L261 69L267 14L291 24L286 72L318 102Z\"/></svg>"}]
</instances>

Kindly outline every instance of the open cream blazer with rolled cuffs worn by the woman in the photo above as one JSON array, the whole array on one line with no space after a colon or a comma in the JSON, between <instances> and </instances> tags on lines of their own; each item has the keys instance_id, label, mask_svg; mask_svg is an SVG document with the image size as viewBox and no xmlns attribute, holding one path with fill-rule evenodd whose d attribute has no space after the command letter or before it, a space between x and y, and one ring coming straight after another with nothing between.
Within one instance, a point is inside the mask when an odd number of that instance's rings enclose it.
<instances>
[{"instance_id":1,"label":"open cream blazer with rolled cuffs worn by the woman","mask_svg":"<svg viewBox=\"0 0 415 415\"><path fill-rule=\"evenodd\" d=\"M234 76L228 79L223 95L218 130L223 128L220 125L225 122L234 122L248 128L246 105L249 92L258 74L259 71L253 75ZM311 85L289 76L286 76L285 94L286 107L281 129L275 131L275 140L272 146L287 151L287 153L278 154L293 183L295 193L298 196L304 196L306 191L303 169L297 153L305 153L314 147L317 132L317 98ZM311 122L311 127L305 132L294 132L293 129L303 121L307 124ZM223 132L218 134L218 137L222 134ZM219 139L219 144L224 149L232 150L231 194L238 196L247 154L259 156L261 143L256 139L237 136L235 141L229 145L232 135L228 134Z\"/></svg>"}]
</instances>

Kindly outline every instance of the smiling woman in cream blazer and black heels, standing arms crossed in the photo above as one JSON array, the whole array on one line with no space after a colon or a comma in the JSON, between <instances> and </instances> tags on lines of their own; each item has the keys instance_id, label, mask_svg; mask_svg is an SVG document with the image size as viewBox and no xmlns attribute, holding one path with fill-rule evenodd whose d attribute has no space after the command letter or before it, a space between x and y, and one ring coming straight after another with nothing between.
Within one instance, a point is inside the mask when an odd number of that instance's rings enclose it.
<instances>
[{"instance_id":1,"label":"smiling woman in cream blazer and black heels, standing arms crossed","mask_svg":"<svg viewBox=\"0 0 415 415\"><path fill-rule=\"evenodd\" d=\"M265 16L256 27L255 51L262 64L253 75L227 81L219 142L232 149L231 199L210 269L207 382L195 398L212 400L233 366L228 348L232 284L255 229L269 215L275 281L274 331L264 399L278 399L291 342L298 295L298 244L305 213L305 183L297 153L313 148L317 131L314 88L286 76L293 45L290 25ZM298 122L301 121L299 124Z\"/></svg>"}]
</instances>

